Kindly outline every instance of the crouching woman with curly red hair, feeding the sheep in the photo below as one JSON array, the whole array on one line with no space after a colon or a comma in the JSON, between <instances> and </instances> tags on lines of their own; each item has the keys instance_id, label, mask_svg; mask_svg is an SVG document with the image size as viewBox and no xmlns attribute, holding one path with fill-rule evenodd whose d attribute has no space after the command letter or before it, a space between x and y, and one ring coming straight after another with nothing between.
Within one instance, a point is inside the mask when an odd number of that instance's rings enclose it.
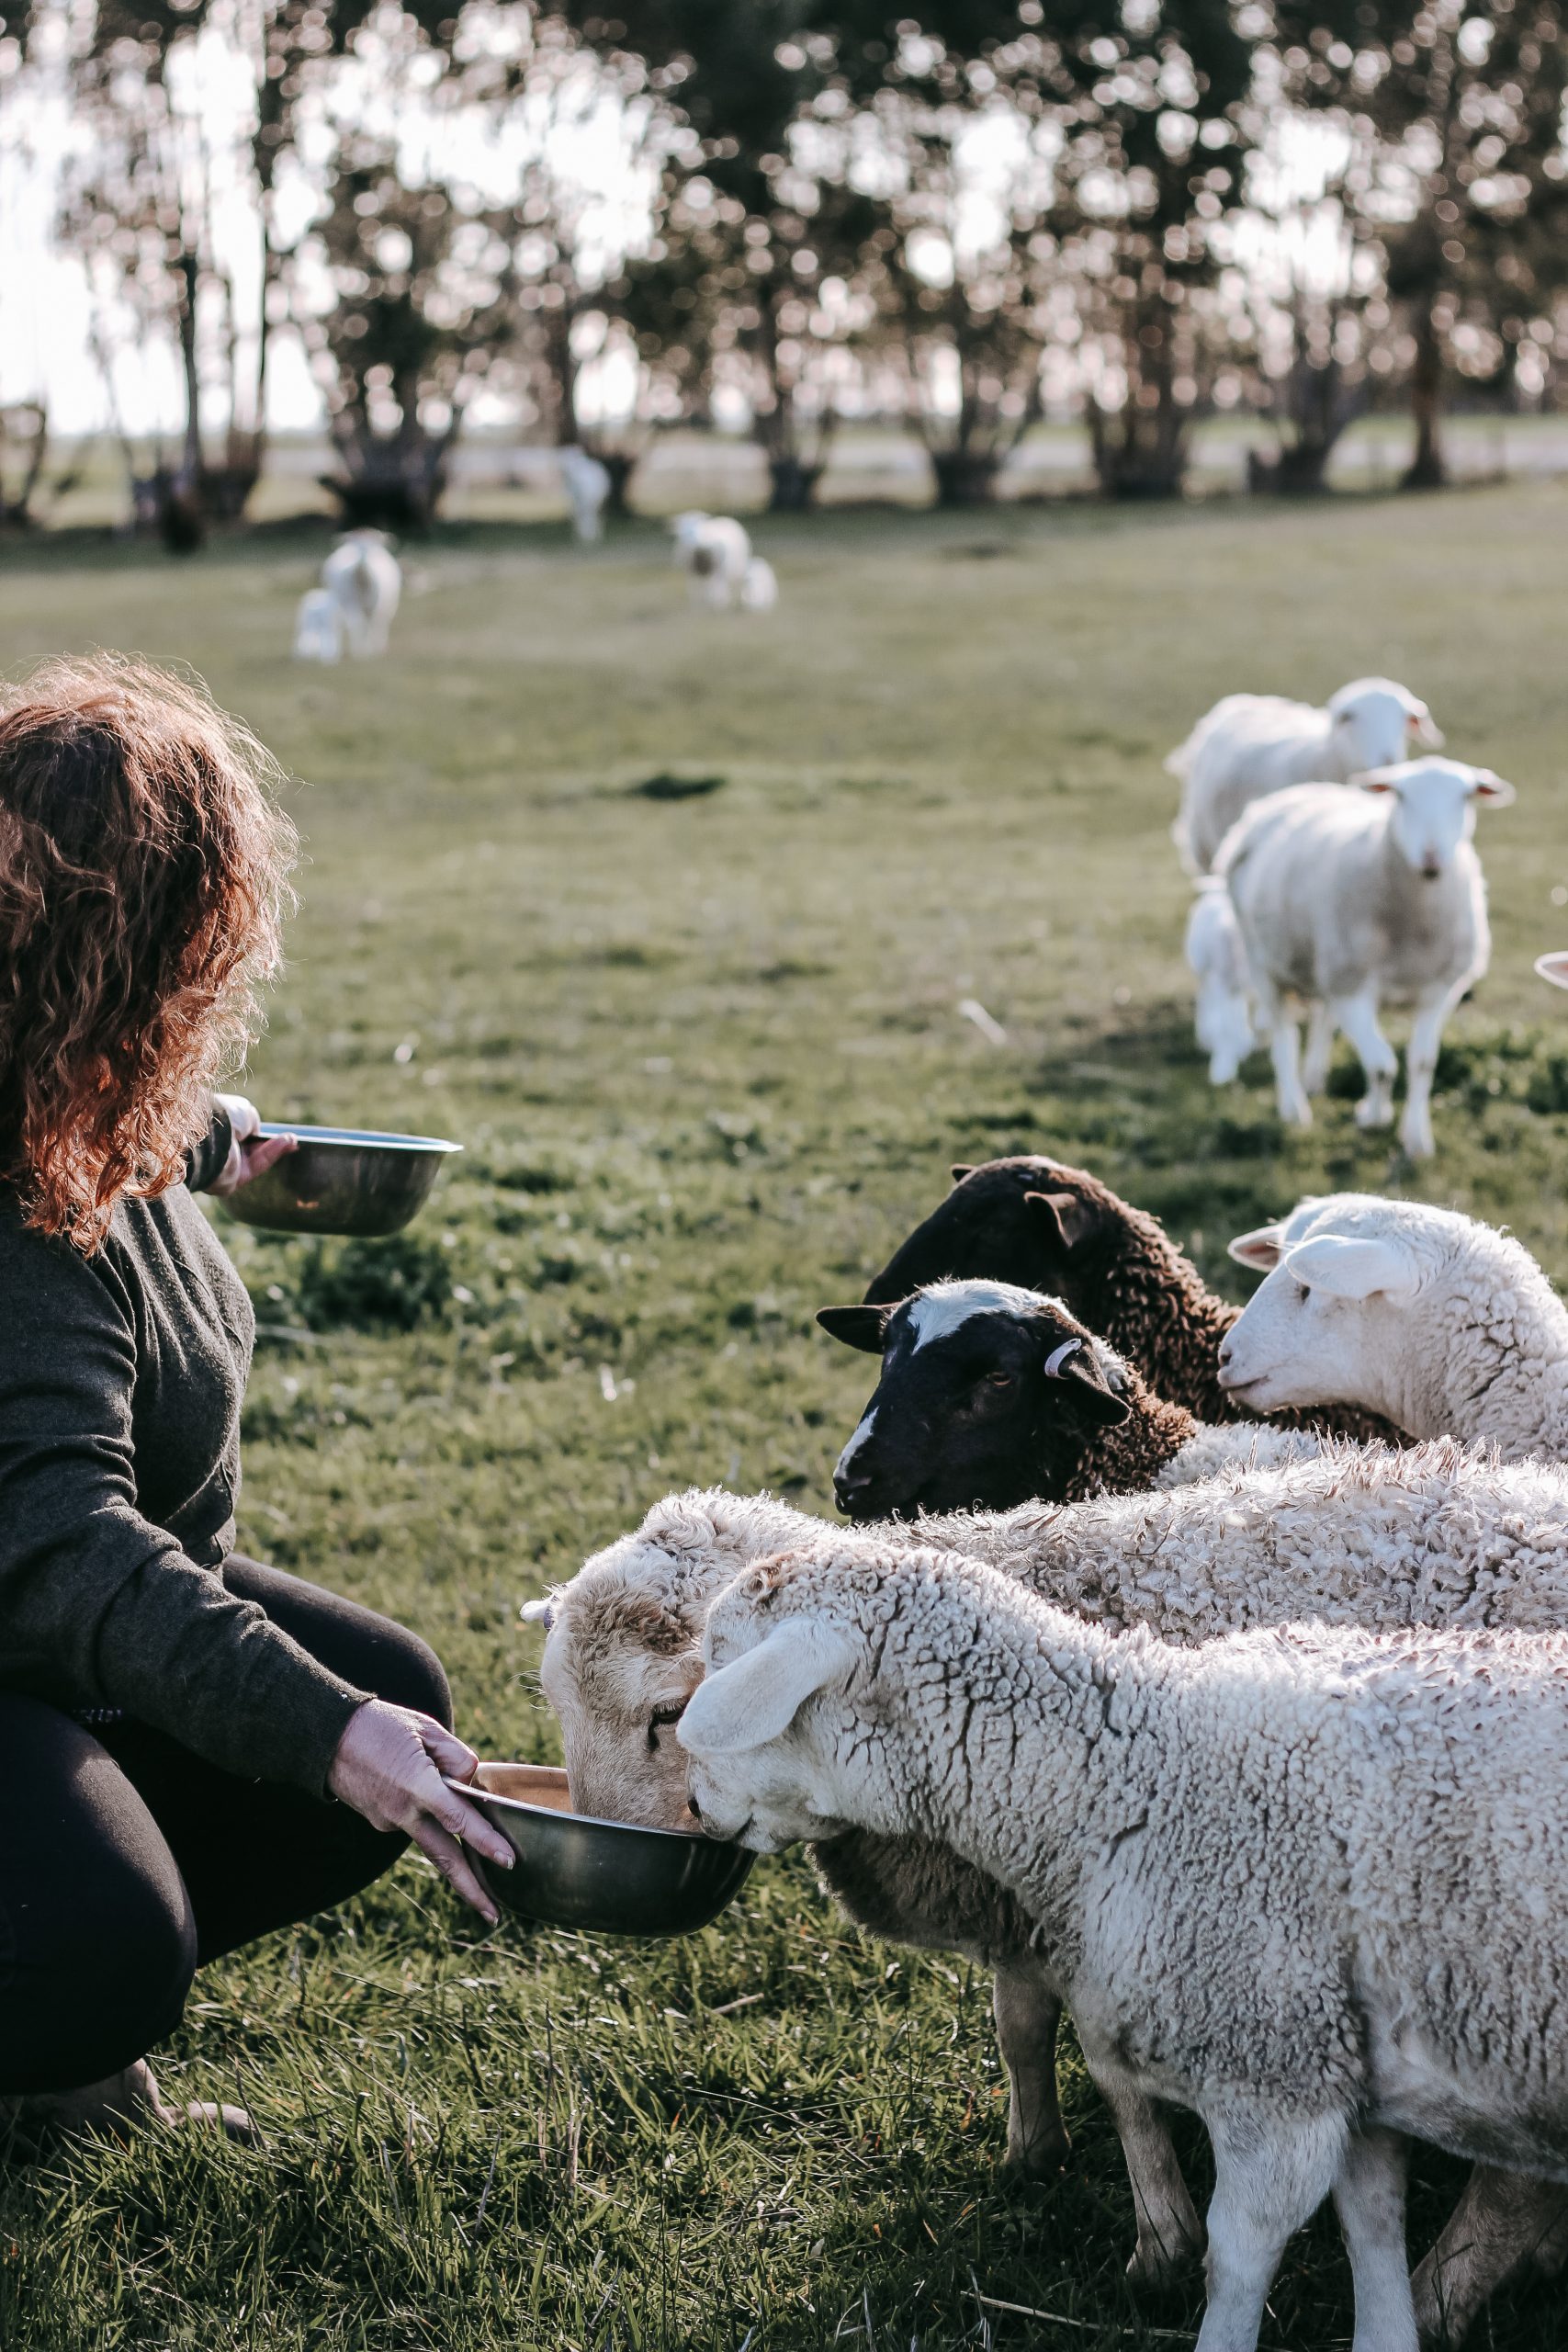
<instances>
[{"instance_id":1,"label":"crouching woman with curly red hair, feeding the sheep","mask_svg":"<svg viewBox=\"0 0 1568 2352\"><path fill-rule=\"evenodd\" d=\"M136 663L0 701L0 2096L66 2124L172 2119L193 1971L404 1839L489 1919L463 1842L510 1865L433 1651L233 1550L254 1319L193 1192L292 1148L209 1091L277 960L270 783Z\"/></svg>"}]
</instances>

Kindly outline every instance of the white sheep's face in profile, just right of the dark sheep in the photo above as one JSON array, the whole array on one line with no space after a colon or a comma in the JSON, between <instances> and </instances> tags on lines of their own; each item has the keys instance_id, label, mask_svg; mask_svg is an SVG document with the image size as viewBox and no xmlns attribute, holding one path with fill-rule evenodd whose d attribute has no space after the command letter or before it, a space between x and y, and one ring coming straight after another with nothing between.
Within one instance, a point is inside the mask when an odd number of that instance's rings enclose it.
<instances>
[{"instance_id":1,"label":"white sheep's face in profile, just right of the dark sheep","mask_svg":"<svg viewBox=\"0 0 1568 2352\"><path fill-rule=\"evenodd\" d=\"M1361 1404L1401 1418L1413 1319L1434 1265L1399 1202L1305 1202L1232 1242L1272 1268L1220 1348L1220 1388L1248 1414Z\"/></svg>"}]
</instances>

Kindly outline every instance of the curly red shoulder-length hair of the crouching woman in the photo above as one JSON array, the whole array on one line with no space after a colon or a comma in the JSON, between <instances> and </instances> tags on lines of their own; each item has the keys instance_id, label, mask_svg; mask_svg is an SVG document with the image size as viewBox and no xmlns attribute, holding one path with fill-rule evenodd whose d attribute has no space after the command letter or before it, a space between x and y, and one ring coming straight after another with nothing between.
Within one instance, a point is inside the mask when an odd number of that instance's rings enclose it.
<instances>
[{"instance_id":1,"label":"curly red shoulder-length hair of the crouching woman","mask_svg":"<svg viewBox=\"0 0 1568 2352\"><path fill-rule=\"evenodd\" d=\"M256 1030L296 835L277 769L190 680L49 661L0 701L0 1167L94 1251L179 1183Z\"/></svg>"}]
</instances>

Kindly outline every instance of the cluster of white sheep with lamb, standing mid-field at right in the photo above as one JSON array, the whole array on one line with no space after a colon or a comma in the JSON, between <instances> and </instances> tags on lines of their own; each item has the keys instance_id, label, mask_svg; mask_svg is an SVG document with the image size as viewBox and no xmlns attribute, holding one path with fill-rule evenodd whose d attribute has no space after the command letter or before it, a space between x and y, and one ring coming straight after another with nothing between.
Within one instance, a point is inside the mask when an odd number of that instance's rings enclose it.
<instances>
[{"instance_id":1,"label":"cluster of white sheep with lamb, standing mid-field at right","mask_svg":"<svg viewBox=\"0 0 1568 2352\"><path fill-rule=\"evenodd\" d=\"M1309 1127L1342 1030L1366 1073L1356 1124L1389 1127L1399 1063L1378 1009L1410 1004L1399 1141L1413 1160L1434 1148L1443 1023L1490 960L1476 809L1514 797L1488 767L1432 757L1441 743L1408 687L1356 677L1321 710L1227 694L1166 760L1182 779L1175 844L1199 882L1187 962L1211 1080L1227 1084L1262 1035L1279 1117Z\"/></svg>"}]
</instances>

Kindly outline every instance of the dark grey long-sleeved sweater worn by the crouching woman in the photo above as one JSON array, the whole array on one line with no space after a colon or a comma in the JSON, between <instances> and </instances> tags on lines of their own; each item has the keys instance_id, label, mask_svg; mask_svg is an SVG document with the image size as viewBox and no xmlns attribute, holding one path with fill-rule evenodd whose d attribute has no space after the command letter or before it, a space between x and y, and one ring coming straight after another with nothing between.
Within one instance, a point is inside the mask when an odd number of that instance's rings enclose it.
<instances>
[{"instance_id":1,"label":"dark grey long-sleeved sweater worn by the crouching woman","mask_svg":"<svg viewBox=\"0 0 1568 2352\"><path fill-rule=\"evenodd\" d=\"M190 1183L226 1157L219 1112ZM216 1573L256 1324L188 1185L122 1200L92 1258L0 1188L0 1686L320 1795L367 1693Z\"/></svg>"}]
</instances>

